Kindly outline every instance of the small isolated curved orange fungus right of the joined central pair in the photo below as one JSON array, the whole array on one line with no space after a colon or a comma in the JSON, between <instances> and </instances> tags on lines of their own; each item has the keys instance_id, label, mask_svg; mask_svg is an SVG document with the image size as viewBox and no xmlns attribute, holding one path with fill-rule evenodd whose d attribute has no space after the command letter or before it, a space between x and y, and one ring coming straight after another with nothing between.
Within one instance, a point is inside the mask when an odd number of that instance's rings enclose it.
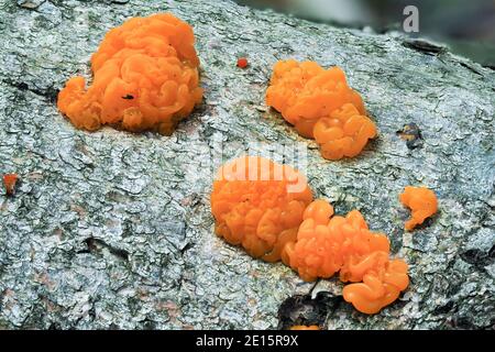
<instances>
[{"instance_id":1,"label":"small isolated curved orange fungus right of the joined central pair","mask_svg":"<svg viewBox=\"0 0 495 352\"><path fill-rule=\"evenodd\" d=\"M410 220L406 221L406 230L411 231L438 210L437 196L426 187L407 186L399 196L400 202L411 210Z\"/></svg>"}]
</instances>

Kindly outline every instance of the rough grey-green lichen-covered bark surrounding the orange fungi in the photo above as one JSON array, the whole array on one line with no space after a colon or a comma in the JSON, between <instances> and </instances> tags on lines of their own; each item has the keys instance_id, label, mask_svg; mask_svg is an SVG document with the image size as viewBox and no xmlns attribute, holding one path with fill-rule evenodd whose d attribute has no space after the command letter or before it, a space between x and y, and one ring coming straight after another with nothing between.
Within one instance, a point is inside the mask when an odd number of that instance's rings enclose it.
<instances>
[{"instance_id":1,"label":"rough grey-green lichen-covered bark surrounding the orange fungi","mask_svg":"<svg viewBox=\"0 0 495 352\"><path fill-rule=\"evenodd\" d=\"M78 131L56 91L89 77L106 31L133 15L172 11L195 29L205 102L170 138ZM258 12L229 1L0 1L2 328L276 328L295 294L341 294L336 279L302 283L213 235L210 160L249 142L307 143L302 172L338 213L358 208L410 264L394 305L364 316L336 305L336 328L493 328L495 74L446 48ZM250 68L235 67L248 55ZM328 162L264 106L282 58L340 65L380 138L351 161ZM396 135L415 122L422 147ZM428 226L403 231L397 196L424 184L440 201Z\"/></svg>"}]
</instances>

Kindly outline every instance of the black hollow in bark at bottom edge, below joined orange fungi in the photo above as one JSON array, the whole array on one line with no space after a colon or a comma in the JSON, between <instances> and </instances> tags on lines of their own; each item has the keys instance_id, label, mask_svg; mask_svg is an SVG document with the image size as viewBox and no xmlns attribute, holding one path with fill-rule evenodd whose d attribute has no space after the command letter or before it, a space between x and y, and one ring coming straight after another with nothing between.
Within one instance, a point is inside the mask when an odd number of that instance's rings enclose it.
<instances>
[{"instance_id":1,"label":"black hollow in bark at bottom edge, below joined orange fungi","mask_svg":"<svg viewBox=\"0 0 495 352\"><path fill-rule=\"evenodd\" d=\"M293 326L322 327L328 315L342 301L342 296L332 296L328 292L318 293L314 299L310 294L289 297L278 308L278 329L286 330Z\"/></svg>"}]
</instances>

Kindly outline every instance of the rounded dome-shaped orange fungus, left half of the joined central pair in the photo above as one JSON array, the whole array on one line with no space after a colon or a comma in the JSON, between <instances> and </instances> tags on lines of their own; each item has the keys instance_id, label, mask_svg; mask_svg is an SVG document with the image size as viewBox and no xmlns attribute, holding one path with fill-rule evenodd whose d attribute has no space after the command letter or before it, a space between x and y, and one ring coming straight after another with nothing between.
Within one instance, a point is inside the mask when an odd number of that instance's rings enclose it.
<instances>
[{"instance_id":1,"label":"rounded dome-shaped orange fungus, left half of the joined central pair","mask_svg":"<svg viewBox=\"0 0 495 352\"><path fill-rule=\"evenodd\" d=\"M294 241L312 195L306 178L287 165L245 156L222 166L213 182L216 233L267 262Z\"/></svg>"}]
</instances>

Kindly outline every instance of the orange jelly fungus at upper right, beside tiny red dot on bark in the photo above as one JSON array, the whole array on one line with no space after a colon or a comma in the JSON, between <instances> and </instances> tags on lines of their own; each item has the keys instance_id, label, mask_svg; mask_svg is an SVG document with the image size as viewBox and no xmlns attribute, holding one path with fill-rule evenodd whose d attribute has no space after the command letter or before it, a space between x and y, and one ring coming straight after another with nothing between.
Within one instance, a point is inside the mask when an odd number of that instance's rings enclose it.
<instances>
[{"instance_id":1,"label":"orange jelly fungus at upper right, beside tiny red dot on bark","mask_svg":"<svg viewBox=\"0 0 495 352\"><path fill-rule=\"evenodd\" d=\"M294 59L276 63L266 105L278 110L300 135L315 139L327 160L356 156L377 133L361 96L348 86L339 67L324 69Z\"/></svg>"}]
</instances>

